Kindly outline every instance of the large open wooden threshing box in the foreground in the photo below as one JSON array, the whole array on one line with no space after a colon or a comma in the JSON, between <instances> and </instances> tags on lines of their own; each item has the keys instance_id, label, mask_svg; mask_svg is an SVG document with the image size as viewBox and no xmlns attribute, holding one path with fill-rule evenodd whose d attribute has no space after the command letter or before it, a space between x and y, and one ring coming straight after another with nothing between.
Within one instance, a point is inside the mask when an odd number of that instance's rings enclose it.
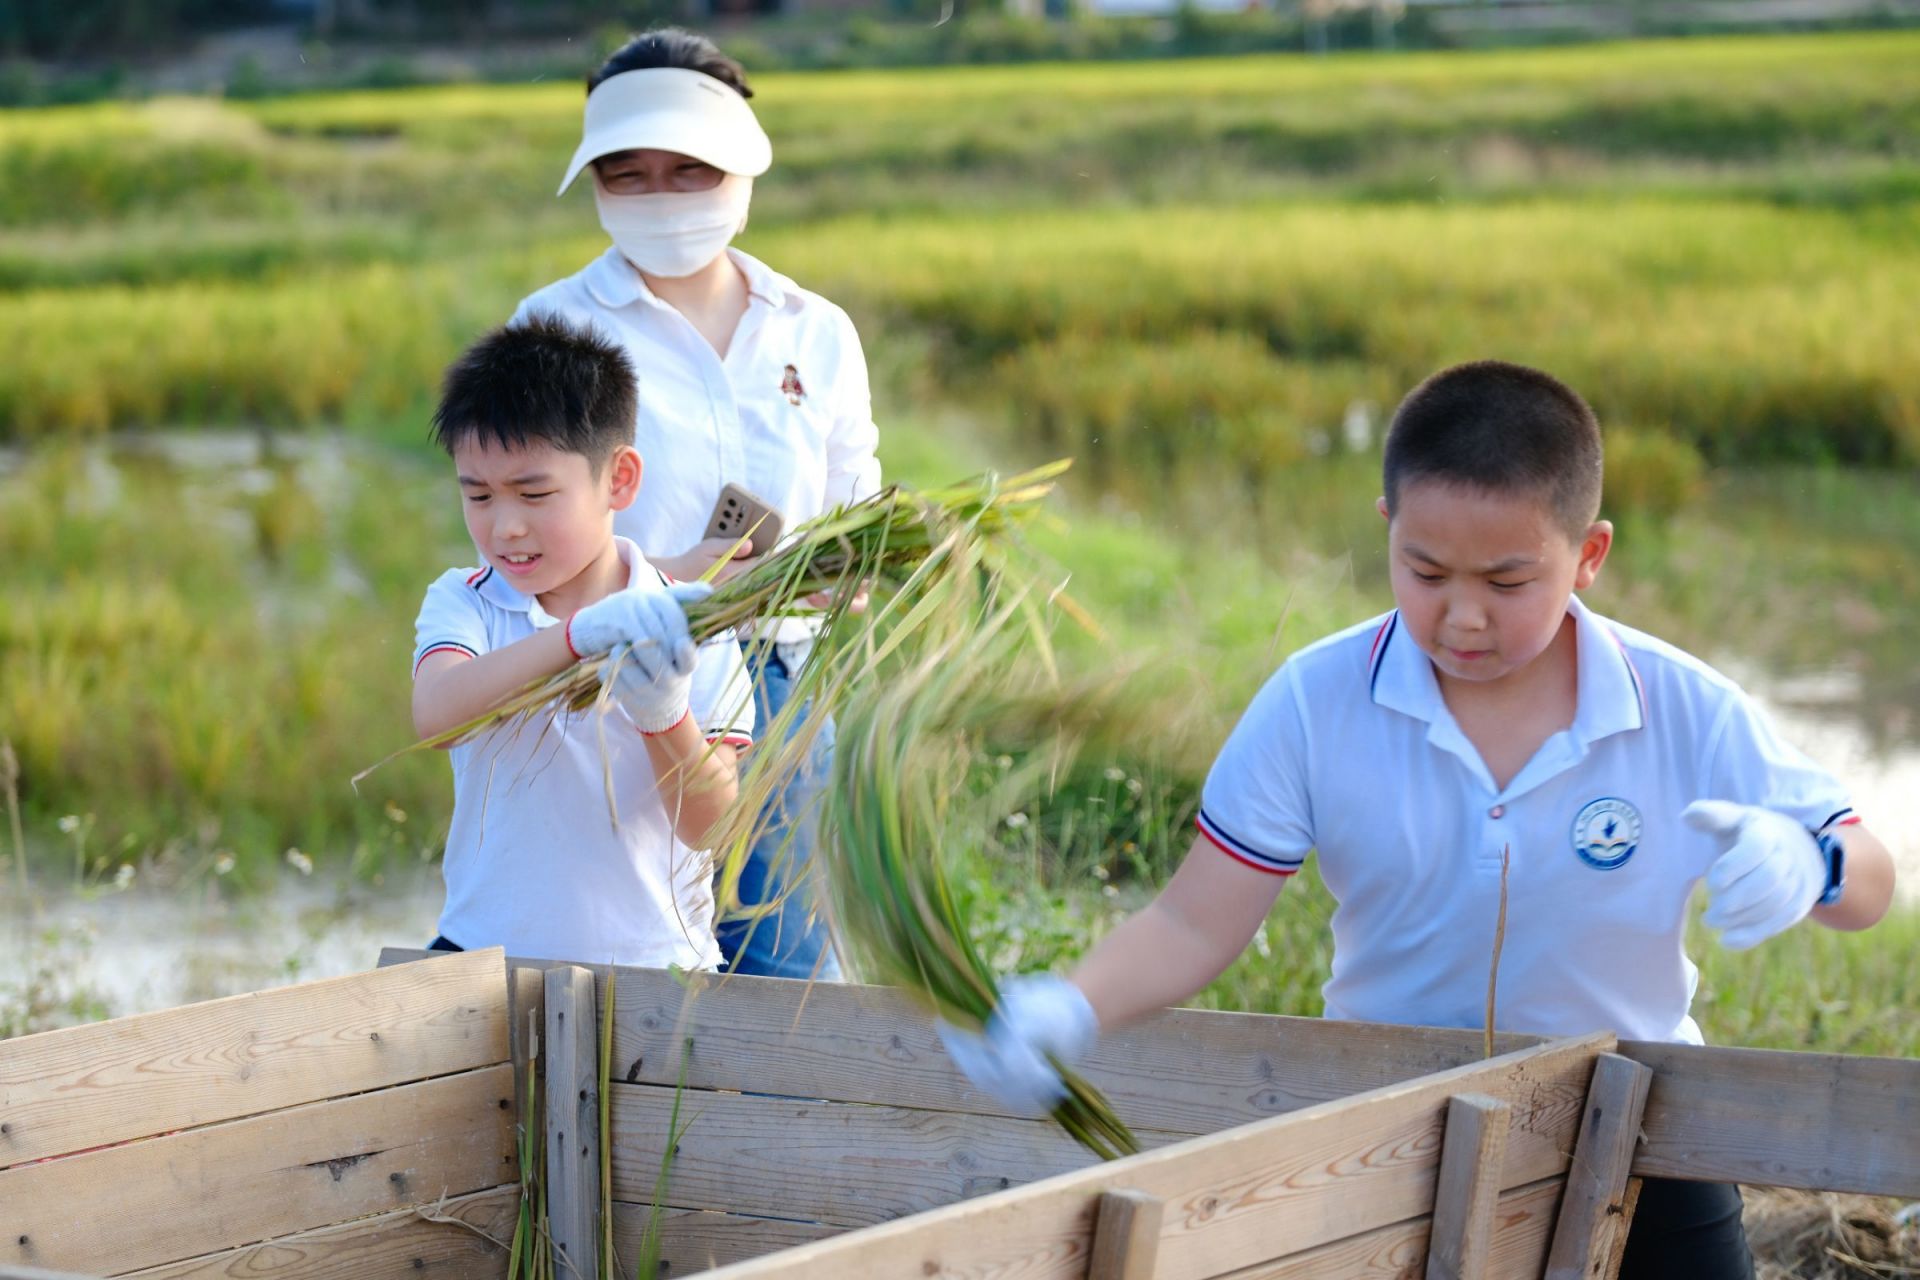
<instances>
[{"instance_id":1,"label":"large open wooden threshing box in the foreground","mask_svg":"<svg viewBox=\"0 0 1920 1280\"><path fill-rule=\"evenodd\" d=\"M422 956L0 1042L0 1278L505 1276L509 1025L561 1276L601 1238L601 1036L624 1274L653 1203L664 1276L1571 1280L1636 1176L1920 1196L1905 1059L1169 1011L1089 1063L1148 1148L1096 1165L897 992L616 969L603 1025L607 969Z\"/></svg>"}]
</instances>

